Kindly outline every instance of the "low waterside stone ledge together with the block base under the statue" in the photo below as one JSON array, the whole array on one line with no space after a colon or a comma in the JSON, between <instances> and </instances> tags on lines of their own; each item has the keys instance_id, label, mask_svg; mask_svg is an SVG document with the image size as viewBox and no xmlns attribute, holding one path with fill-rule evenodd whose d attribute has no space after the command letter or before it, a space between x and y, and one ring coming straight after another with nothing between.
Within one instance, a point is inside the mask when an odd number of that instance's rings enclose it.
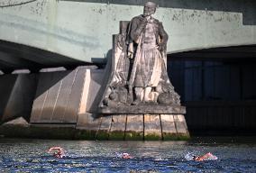
<instances>
[{"instance_id":1,"label":"low waterside stone ledge together with the block base under the statue","mask_svg":"<svg viewBox=\"0 0 256 173\"><path fill-rule=\"evenodd\" d=\"M91 114L81 116L82 122L79 125L75 123L28 123L26 125L5 123L0 126L0 135L62 140L183 141L189 139L182 114L119 114L96 119L92 118ZM176 123L182 125L177 126Z\"/></svg>"}]
</instances>

